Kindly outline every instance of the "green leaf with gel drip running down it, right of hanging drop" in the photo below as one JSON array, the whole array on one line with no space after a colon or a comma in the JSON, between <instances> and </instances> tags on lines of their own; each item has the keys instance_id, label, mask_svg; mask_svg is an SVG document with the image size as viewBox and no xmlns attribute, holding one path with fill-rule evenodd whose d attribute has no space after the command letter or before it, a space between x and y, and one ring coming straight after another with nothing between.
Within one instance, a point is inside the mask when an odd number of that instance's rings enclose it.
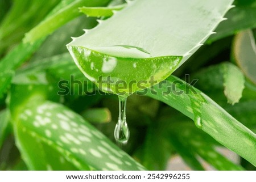
<instances>
[{"instance_id":1,"label":"green leaf with gel drip running down it, right of hanging drop","mask_svg":"<svg viewBox=\"0 0 256 182\"><path fill-rule=\"evenodd\" d=\"M192 118L199 128L216 139L216 141L233 150L254 164L254 166L256 165L255 133L230 116L229 113L203 92L188 83L174 76L168 77L166 82L167 84L162 84L162 88L157 85L154 87L158 94L152 94L148 91L147 95L163 101ZM170 88L175 88L175 90L168 92ZM163 94L166 91L168 94Z\"/></svg>"}]
</instances>

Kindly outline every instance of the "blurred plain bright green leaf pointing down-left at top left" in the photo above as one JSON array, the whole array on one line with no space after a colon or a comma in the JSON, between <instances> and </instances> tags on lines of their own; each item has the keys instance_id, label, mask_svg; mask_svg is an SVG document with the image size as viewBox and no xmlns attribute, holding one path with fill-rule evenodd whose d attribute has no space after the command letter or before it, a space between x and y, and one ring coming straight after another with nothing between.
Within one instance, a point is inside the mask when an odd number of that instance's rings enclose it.
<instances>
[{"instance_id":1,"label":"blurred plain bright green leaf pointing down-left at top left","mask_svg":"<svg viewBox=\"0 0 256 182\"><path fill-rule=\"evenodd\" d=\"M105 6L109 1L110 0L76 0L59 3L59 5L56 6L56 10L53 10L51 15L26 33L23 41L25 43L32 43L52 33L57 28L63 26L63 24L79 16L80 12L78 8L81 6Z\"/></svg>"}]
</instances>

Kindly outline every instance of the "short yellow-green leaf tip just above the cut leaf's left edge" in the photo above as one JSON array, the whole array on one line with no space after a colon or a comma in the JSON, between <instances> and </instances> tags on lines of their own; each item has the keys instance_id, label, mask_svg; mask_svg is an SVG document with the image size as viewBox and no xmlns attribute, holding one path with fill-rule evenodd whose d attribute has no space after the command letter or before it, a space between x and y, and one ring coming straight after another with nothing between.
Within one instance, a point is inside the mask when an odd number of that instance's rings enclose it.
<instances>
[{"instance_id":1,"label":"short yellow-green leaf tip just above the cut leaf's left edge","mask_svg":"<svg viewBox=\"0 0 256 182\"><path fill-rule=\"evenodd\" d=\"M109 6L109 7L85 7L85 6L83 6L83 7L80 7L79 10L87 16L109 17L114 14L113 11L122 10L125 6L126 6L125 4L117 5L117 6Z\"/></svg>"}]
</instances>

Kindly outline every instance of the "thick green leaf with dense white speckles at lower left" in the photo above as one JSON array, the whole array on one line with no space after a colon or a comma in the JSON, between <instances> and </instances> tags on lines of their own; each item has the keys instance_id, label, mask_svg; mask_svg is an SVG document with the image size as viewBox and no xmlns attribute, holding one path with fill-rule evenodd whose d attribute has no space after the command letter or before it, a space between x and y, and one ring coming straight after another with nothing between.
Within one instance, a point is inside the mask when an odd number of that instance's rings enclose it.
<instances>
[{"instance_id":1,"label":"thick green leaf with dense white speckles at lower left","mask_svg":"<svg viewBox=\"0 0 256 182\"><path fill-rule=\"evenodd\" d=\"M45 82L11 87L15 141L30 170L145 170L52 95L55 88Z\"/></svg>"}]
</instances>

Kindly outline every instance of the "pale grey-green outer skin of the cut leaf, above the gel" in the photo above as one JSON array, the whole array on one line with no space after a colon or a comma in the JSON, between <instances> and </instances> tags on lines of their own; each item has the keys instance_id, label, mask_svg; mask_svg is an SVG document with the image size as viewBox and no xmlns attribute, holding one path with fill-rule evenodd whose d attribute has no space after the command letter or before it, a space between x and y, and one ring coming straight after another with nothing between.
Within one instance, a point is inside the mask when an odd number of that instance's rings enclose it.
<instances>
[{"instance_id":1,"label":"pale grey-green outer skin of the cut leaf, above the gel","mask_svg":"<svg viewBox=\"0 0 256 182\"><path fill-rule=\"evenodd\" d=\"M225 12L232 7L231 3L229 0L130 2L125 9L73 40L69 46L81 46L112 56L125 51L117 45L141 48L152 57L188 56L221 22ZM216 11L212 11L212 7Z\"/></svg>"}]
</instances>

